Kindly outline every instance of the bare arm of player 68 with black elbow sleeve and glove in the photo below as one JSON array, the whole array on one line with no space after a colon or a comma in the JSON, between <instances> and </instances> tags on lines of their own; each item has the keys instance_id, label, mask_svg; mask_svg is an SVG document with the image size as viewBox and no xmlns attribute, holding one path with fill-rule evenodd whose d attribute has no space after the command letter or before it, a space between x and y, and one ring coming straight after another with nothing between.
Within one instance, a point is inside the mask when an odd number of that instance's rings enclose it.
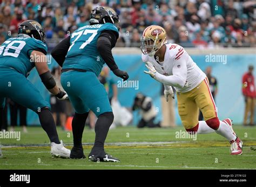
<instances>
[{"instance_id":1,"label":"bare arm of player 68 with black elbow sleeve and glove","mask_svg":"<svg viewBox=\"0 0 256 187\"><path fill-rule=\"evenodd\" d=\"M45 87L53 94L55 95L58 99L65 99L67 97L66 92L61 91L52 77L52 74L50 73L50 70L48 68L47 62L46 62L46 57L45 54L39 51L32 51L31 55L33 56L42 56L40 58L35 58L35 59L42 59L42 61L34 61L35 66L37 69L37 72L45 85ZM44 60L43 60L44 59Z\"/></svg>"}]
</instances>

